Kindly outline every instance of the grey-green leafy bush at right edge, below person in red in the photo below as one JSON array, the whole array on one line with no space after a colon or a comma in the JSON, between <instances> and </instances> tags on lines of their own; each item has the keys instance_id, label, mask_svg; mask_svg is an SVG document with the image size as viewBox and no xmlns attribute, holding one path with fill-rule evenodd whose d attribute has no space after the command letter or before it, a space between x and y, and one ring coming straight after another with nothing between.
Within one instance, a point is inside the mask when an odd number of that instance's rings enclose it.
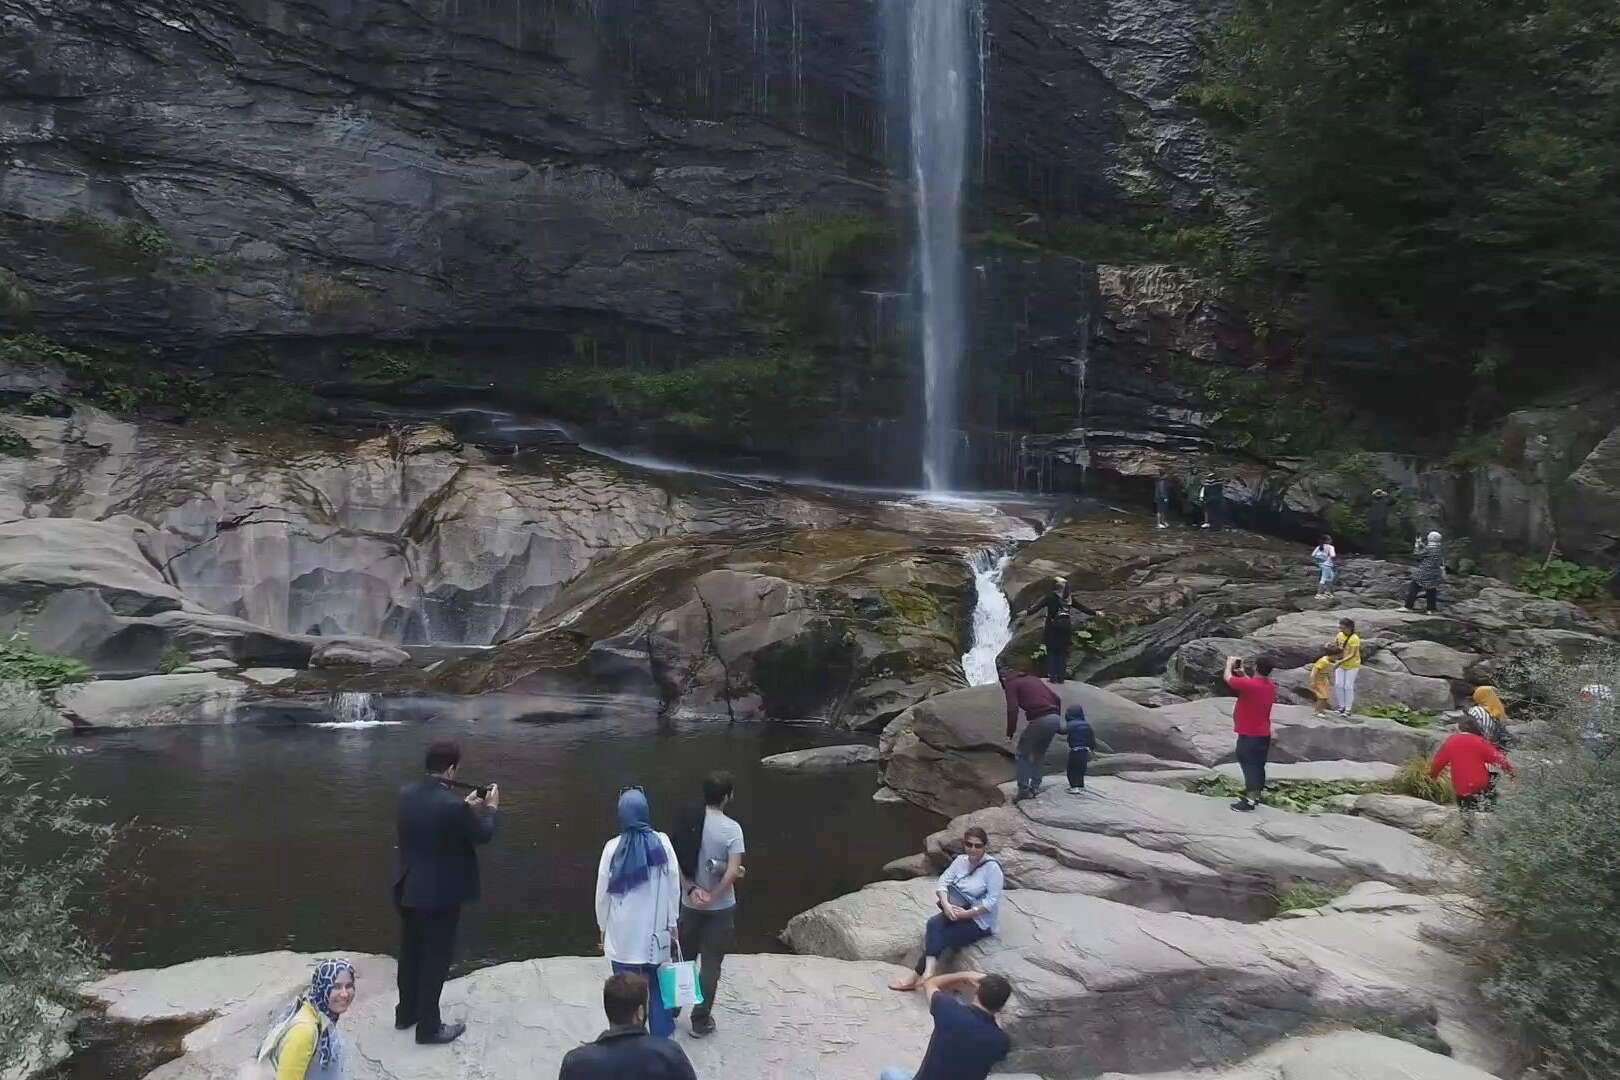
<instances>
[{"instance_id":1,"label":"grey-green leafy bush at right edge, below person in red","mask_svg":"<svg viewBox=\"0 0 1620 1080\"><path fill-rule=\"evenodd\" d=\"M1620 755L1599 758L1581 737L1612 746L1620 719L1614 699L1580 688L1620 687L1620 651L1537 654L1511 675L1570 738L1545 763L1518 763L1471 852L1484 993L1550 1075L1607 1080L1620 1075Z\"/></svg>"}]
</instances>

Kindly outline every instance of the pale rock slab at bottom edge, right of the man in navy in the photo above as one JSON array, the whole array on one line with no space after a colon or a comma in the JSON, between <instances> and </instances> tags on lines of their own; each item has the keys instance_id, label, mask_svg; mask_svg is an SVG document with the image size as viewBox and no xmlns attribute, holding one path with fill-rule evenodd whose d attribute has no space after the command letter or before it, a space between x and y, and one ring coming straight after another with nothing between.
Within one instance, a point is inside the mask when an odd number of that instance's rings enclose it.
<instances>
[{"instance_id":1,"label":"pale rock slab at bottom edge, right of the man in navy","mask_svg":"<svg viewBox=\"0 0 1620 1080\"><path fill-rule=\"evenodd\" d=\"M1231 1069L1123 1072L1098 1080L1494 1080L1492 1074L1371 1031L1291 1038Z\"/></svg>"}]
</instances>

